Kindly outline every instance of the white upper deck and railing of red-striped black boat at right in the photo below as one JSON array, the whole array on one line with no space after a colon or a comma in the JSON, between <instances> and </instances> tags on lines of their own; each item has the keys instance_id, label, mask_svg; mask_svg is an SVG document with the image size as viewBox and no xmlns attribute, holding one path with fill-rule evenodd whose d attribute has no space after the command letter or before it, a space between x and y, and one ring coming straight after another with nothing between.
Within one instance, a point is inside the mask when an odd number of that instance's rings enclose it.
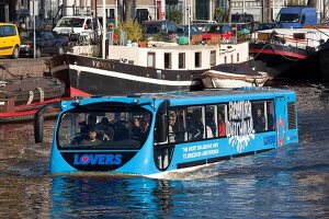
<instances>
[{"instance_id":1,"label":"white upper deck and railing of red-striped black boat at right","mask_svg":"<svg viewBox=\"0 0 329 219\"><path fill-rule=\"evenodd\" d=\"M306 37L305 33L279 34L276 32L271 32L253 33L251 37L251 43L271 43L294 46L297 48L316 48L322 42L321 39Z\"/></svg>"}]
</instances>

